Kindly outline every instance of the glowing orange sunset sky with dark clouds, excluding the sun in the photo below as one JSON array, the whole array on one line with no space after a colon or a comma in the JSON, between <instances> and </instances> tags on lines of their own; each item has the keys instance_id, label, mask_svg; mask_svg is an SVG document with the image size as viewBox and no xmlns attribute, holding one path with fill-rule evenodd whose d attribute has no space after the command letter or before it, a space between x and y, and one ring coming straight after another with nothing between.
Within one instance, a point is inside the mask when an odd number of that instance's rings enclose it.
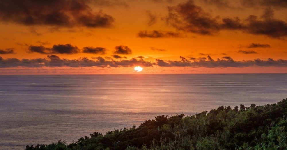
<instances>
[{"instance_id":1,"label":"glowing orange sunset sky with dark clouds, excluding the sun","mask_svg":"<svg viewBox=\"0 0 287 150\"><path fill-rule=\"evenodd\" d=\"M286 0L0 0L0 74L287 73L286 14Z\"/></svg>"}]
</instances>

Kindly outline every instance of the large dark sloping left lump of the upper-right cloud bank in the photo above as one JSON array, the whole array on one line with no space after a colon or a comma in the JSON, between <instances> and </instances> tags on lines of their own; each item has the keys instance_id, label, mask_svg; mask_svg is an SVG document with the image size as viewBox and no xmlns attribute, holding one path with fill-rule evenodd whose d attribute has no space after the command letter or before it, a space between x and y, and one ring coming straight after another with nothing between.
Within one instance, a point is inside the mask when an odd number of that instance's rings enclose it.
<instances>
[{"instance_id":1,"label":"large dark sloping left lump of the upper-right cloud bank","mask_svg":"<svg viewBox=\"0 0 287 150\"><path fill-rule=\"evenodd\" d=\"M214 35L220 31L217 19L212 18L209 13L195 5L193 1L168 7L166 21L178 30L202 35Z\"/></svg>"}]
</instances>

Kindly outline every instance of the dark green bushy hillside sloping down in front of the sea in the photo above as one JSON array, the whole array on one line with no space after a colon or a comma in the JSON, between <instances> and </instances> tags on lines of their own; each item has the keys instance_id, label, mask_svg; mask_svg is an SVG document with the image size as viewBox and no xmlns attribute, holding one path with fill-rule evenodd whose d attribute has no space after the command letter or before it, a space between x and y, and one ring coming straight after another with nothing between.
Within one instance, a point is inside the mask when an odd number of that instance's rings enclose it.
<instances>
[{"instance_id":1,"label":"dark green bushy hillside sloping down in front of the sea","mask_svg":"<svg viewBox=\"0 0 287 150\"><path fill-rule=\"evenodd\" d=\"M139 127L92 133L74 143L27 145L26 150L287 149L287 99L277 104L224 107L192 116L160 115Z\"/></svg>"}]
</instances>

